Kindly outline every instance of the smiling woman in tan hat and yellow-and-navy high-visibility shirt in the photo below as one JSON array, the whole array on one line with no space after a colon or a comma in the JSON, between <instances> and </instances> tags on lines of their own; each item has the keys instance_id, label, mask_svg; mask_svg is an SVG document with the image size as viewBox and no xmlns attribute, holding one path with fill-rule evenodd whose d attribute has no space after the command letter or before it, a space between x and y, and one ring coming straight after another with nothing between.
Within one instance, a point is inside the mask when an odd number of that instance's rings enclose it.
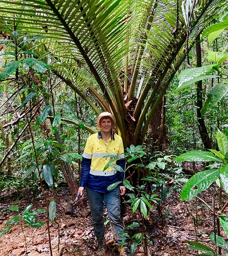
<instances>
[{"instance_id":1,"label":"smiling woman in tan hat and yellow-and-navy high-visibility shirt","mask_svg":"<svg viewBox=\"0 0 228 256\"><path fill-rule=\"evenodd\" d=\"M129 249L126 246L120 246L122 240L125 239L124 236L120 236L120 233L124 232L120 216L120 195L124 195L126 191L123 185L124 172L116 171L112 167L108 167L104 171L104 167L110 161L110 156L120 158L116 161L116 164L120 165L123 169L125 168L123 141L113 131L116 119L112 114L109 112L101 113L96 119L96 123L97 129L100 131L90 135L87 139L81 164L81 179L78 193L83 195L84 187L86 187L94 234L99 245L97 255L105 255L105 228L103 220L105 203L113 237L120 256L128 256ZM118 181L121 182L119 186L116 186L111 191L107 190L109 185Z\"/></svg>"}]
</instances>

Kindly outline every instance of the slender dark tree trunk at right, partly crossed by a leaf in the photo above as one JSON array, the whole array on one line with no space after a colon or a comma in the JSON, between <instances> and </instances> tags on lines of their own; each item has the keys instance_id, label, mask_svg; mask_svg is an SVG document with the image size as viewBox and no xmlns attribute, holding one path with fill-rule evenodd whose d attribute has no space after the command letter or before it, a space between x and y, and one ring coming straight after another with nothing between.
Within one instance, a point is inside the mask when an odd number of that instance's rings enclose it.
<instances>
[{"instance_id":1,"label":"slender dark tree trunk at right, partly crossed by a leaf","mask_svg":"<svg viewBox=\"0 0 228 256\"><path fill-rule=\"evenodd\" d=\"M202 56L201 56L201 45L200 45L200 36L196 38L196 64L197 67L202 66ZM197 118L198 118L198 127L200 132L200 137L204 144L205 149L212 148L212 141L208 135L207 128L205 126L204 118L201 115L200 110L203 107L203 90L202 90L202 80L197 83Z\"/></svg>"}]
</instances>

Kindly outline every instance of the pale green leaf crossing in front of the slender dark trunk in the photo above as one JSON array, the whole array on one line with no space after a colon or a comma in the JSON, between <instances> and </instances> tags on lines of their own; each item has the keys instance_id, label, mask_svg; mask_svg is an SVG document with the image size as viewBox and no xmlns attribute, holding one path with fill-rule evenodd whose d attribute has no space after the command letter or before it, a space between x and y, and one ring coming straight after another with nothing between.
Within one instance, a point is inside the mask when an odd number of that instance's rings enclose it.
<instances>
[{"instance_id":1,"label":"pale green leaf crossing in front of the slender dark trunk","mask_svg":"<svg viewBox=\"0 0 228 256\"><path fill-rule=\"evenodd\" d=\"M196 81L216 77L216 75L207 74L209 72L215 71L214 69L215 66L216 64L212 64L212 65L205 65L198 68L185 69L178 75L179 85L175 91L178 92L181 89L184 89L185 87L187 87L188 85L192 85Z\"/></svg>"}]
</instances>

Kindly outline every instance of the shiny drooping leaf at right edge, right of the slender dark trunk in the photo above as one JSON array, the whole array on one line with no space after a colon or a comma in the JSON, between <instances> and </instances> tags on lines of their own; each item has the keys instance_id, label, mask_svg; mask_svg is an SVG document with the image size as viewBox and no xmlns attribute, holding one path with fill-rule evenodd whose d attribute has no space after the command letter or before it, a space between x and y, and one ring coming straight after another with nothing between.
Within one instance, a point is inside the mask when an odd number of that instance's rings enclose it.
<instances>
[{"instance_id":1,"label":"shiny drooping leaf at right edge, right of the slender dark trunk","mask_svg":"<svg viewBox=\"0 0 228 256\"><path fill-rule=\"evenodd\" d=\"M221 98L224 97L224 95L228 91L228 84L226 83L218 83L214 85L211 89L208 90L207 93L207 100L204 103L204 106L200 110L201 114L204 115L209 109L212 108L217 102L220 101Z\"/></svg>"}]
</instances>

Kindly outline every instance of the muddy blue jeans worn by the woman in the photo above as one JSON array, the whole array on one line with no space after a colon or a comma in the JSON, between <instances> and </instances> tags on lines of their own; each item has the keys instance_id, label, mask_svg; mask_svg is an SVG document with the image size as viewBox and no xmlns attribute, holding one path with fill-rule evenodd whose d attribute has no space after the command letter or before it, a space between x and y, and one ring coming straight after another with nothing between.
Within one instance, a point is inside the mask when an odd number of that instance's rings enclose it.
<instances>
[{"instance_id":1,"label":"muddy blue jeans worn by the woman","mask_svg":"<svg viewBox=\"0 0 228 256\"><path fill-rule=\"evenodd\" d=\"M89 207L92 214L92 224L96 238L104 236L103 209L104 203L108 211L109 223L116 244L121 244L125 236L120 236L124 232L122 219L120 216L120 188L116 187L108 193L92 191L86 187Z\"/></svg>"}]
</instances>

